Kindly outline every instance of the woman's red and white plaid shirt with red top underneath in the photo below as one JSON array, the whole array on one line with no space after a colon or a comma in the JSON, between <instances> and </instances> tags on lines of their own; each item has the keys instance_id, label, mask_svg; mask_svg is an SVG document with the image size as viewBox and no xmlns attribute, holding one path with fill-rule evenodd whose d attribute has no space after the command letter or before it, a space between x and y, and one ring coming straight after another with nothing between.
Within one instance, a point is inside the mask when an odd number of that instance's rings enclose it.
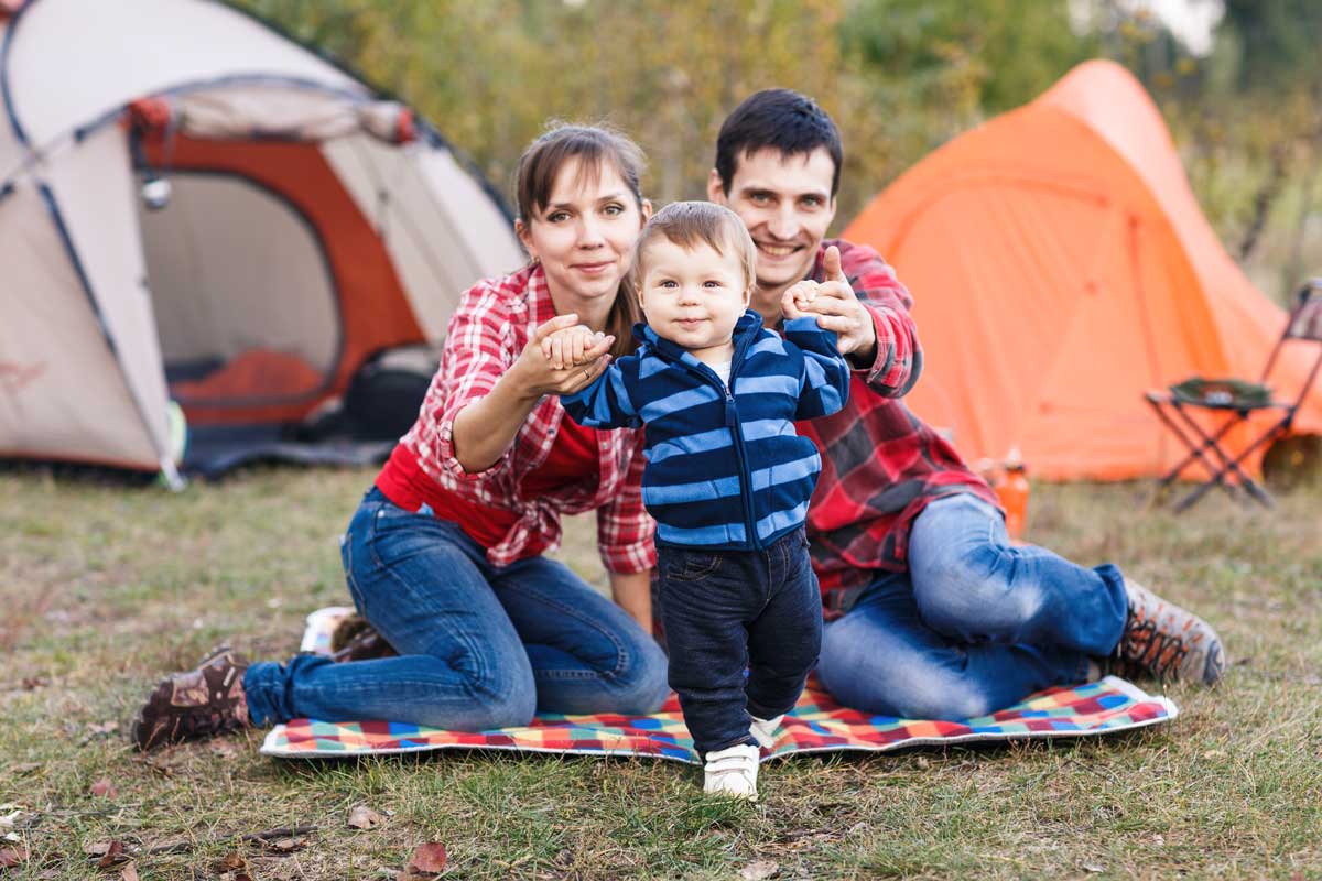
<instances>
[{"instance_id":1,"label":"woman's red and white plaid shirt with red top underneath","mask_svg":"<svg viewBox=\"0 0 1322 881\"><path fill-rule=\"evenodd\" d=\"M642 509L641 431L572 431L564 423L562 432L564 409L559 398L547 395L494 465L468 473L455 458L455 415L484 398L533 330L553 317L541 267L469 288L449 321L440 370L418 421L377 477L377 487L402 507L427 503L469 535L477 532L493 565L558 547L562 514L596 510L605 568L644 572L656 563L656 524Z\"/></svg>"}]
</instances>

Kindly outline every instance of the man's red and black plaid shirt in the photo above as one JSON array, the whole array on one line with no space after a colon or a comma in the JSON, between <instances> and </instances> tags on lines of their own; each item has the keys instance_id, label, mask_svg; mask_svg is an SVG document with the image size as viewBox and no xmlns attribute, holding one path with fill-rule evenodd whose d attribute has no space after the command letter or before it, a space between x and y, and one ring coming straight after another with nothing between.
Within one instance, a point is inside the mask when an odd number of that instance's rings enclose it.
<instances>
[{"instance_id":1,"label":"man's red and black plaid shirt","mask_svg":"<svg viewBox=\"0 0 1322 881\"><path fill-rule=\"evenodd\" d=\"M899 400L923 370L910 292L876 251L843 240L822 242L813 280L825 279L830 244L839 247L841 268L873 313L876 361L854 371L843 409L797 423L822 454L808 538L828 618L847 609L876 571L908 567L910 528L932 499L972 493L999 507L986 482Z\"/></svg>"}]
</instances>

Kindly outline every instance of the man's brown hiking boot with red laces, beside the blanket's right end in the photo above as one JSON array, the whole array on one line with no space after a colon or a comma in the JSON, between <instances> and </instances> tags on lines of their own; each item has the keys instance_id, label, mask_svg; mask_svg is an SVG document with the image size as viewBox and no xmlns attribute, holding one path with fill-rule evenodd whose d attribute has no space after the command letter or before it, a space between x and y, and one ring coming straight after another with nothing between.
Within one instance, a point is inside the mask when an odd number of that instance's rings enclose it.
<instances>
[{"instance_id":1,"label":"man's brown hiking boot with red laces, beside the blanket's right end","mask_svg":"<svg viewBox=\"0 0 1322 881\"><path fill-rule=\"evenodd\" d=\"M1113 656L1116 672L1204 686L1222 678L1225 651L1210 623L1128 579L1125 592L1129 614Z\"/></svg>"}]
</instances>

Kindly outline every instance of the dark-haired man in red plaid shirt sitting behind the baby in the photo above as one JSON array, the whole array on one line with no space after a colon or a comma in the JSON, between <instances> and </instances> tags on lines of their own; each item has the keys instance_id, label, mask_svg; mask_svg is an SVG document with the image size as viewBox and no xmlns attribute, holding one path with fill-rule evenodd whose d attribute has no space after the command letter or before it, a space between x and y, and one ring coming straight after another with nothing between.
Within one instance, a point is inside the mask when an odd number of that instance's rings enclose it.
<instances>
[{"instance_id":1,"label":"dark-haired man in red plaid shirt sitting behind the baby","mask_svg":"<svg viewBox=\"0 0 1322 881\"><path fill-rule=\"evenodd\" d=\"M802 314L789 287L818 283L804 309L854 367L845 409L798 425L822 454L808 512L822 684L863 712L966 719L1109 671L1216 682L1211 626L1113 565L1011 547L995 494L900 403L923 366L912 299L875 251L825 240L841 161L825 111L767 90L726 119L707 182L758 247L752 308L776 326Z\"/></svg>"}]
</instances>

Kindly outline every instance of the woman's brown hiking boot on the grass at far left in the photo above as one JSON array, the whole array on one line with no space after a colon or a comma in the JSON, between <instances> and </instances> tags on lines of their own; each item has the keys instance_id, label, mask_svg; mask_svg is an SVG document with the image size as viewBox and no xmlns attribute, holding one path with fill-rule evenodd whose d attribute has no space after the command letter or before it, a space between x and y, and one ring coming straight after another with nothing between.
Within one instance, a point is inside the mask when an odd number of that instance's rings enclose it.
<instances>
[{"instance_id":1,"label":"woman's brown hiking boot on the grass at far left","mask_svg":"<svg viewBox=\"0 0 1322 881\"><path fill-rule=\"evenodd\" d=\"M137 711L128 738L147 752L194 737L247 728L247 662L221 646L194 670L163 679Z\"/></svg>"}]
</instances>

